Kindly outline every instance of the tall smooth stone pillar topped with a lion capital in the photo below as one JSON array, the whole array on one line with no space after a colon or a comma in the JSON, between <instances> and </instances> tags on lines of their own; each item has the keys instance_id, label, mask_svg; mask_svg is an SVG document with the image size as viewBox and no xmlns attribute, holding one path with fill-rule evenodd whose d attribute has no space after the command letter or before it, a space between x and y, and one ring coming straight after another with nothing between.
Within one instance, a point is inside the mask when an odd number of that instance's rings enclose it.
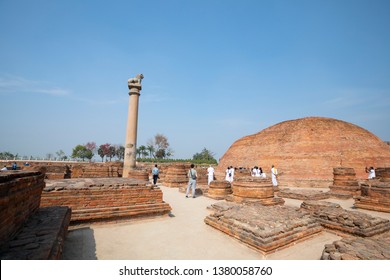
<instances>
[{"instance_id":1,"label":"tall smooth stone pillar topped with a lion capital","mask_svg":"<svg viewBox=\"0 0 390 280\"><path fill-rule=\"evenodd\" d=\"M137 156L137 125L138 125L138 101L142 89L142 74L128 80L129 86L129 113L127 116L125 158L122 177L128 178L129 171L135 168Z\"/></svg>"}]
</instances>

